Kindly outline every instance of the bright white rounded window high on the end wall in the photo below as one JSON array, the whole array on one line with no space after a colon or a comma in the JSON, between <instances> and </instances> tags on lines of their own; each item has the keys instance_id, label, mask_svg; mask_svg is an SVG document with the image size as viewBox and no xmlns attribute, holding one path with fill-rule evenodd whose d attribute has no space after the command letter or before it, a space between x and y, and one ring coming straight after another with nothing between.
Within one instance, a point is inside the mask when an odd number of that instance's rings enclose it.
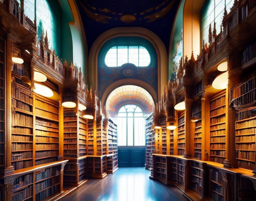
<instances>
[{"instance_id":1,"label":"bright white rounded window high on the end wall","mask_svg":"<svg viewBox=\"0 0 256 201\"><path fill-rule=\"evenodd\" d=\"M113 46L105 56L107 67L119 67L132 63L137 67L147 67L151 62L149 51L143 46Z\"/></svg>"}]
</instances>

